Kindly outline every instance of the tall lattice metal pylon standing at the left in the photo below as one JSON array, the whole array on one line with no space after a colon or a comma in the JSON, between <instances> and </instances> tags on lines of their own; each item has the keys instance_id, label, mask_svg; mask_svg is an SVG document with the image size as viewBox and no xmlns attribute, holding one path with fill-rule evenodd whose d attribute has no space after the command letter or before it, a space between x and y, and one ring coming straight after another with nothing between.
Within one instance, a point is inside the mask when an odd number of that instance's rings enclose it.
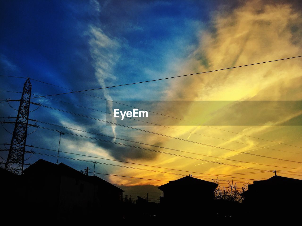
<instances>
[{"instance_id":1,"label":"tall lattice metal pylon standing at the left","mask_svg":"<svg viewBox=\"0 0 302 226\"><path fill-rule=\"evenodd\" d=\"M23 174L25 142L29 116L29 105L31 103L31 82L27 78L24 83L18 115L14 127L11 146L9 148L5 169L15 174Z\"/></svg>"}]
</instances>

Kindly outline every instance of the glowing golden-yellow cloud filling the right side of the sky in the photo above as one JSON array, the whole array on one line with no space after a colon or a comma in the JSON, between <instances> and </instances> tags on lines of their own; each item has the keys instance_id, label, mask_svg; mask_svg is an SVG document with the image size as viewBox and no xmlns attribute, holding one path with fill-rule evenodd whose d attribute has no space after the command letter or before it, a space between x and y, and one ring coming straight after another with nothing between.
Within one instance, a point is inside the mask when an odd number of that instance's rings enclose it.
<instances>
[{"instance_id":1,"label":"glowing golden-yellow cloud filling the right side of the sky","mask_svg":"<svg viewBox=\"0 0 302 226\"><path fill-rule=\"evenodd\" d=\"M262 61L270 61L280 58L288 58L302 53L301 12L295 10L290 4L267 4L266 1L246 1L243 5L231 12L216 12L212 20L212 27L209 30L201 31L198 48L185 59L182 65L172 65L178 68L179 75L197 73L202 71L215 70L226 67L252 64ZM198 33L199 31L197 31ZM232 70L213 72L201 75L192 75L170 81L170 86L166 90L166 100L301 100L302 98L302 64L301 59L291 59L272 63L254 65L249 67L236 68ZM175 112L181 112L185 120L202 121L199 114L193 111L184 111L181 104L175 105ZM267 109L269 111L269 109ZM171 112L162 112L171 115ZM293 115L288 114L284 117L290 120ZM179 130L172 130L163 127L146 127L148 130L157 133L168 134L169 136L190 139L200 143L207 143L214 146L223 146L228 149L251 151L259 149L239 143L226 142L219 139L203 137L201 135L190 134ZM220 130L207 127L178 126L194 133L206 134L214 137L221 137L226 140L239 141L259 146L270 146L271 143L264 140L257 140L250 137L243 137ZM301 135L301 127L294 126L255 126L255 127L224 127L226 130L241 132L250 136L262 137L266 140L277 142L288 141ZM236 136L235 136L236 135ZM161 146L225 157L234 155L235 152L215 149L213 147L202 146L199 144L188 143L185 141L171 138L163 138L157 135L146 135L139 137L145 143L161 143ZM300 140L296 140L300 142ZM278 144L274 149L301 151L296 147ZM215 158L204 157L192 154L167 151L194 158L206 159L209 161ZM290 154L269 149L259 149L254 151L260 155L274 156L281 159L300 159L301 155ZM283 167L300 168L299 164L284 161L276 161L255 156L241 154L230 157L246 162L259 162L268 165ZM219 160L227 164L257 169L274 170L272 167ZM245 168L236 168L215 163L203 163L202 161L175 158L171 155L159 154L156 159L141 161L140 163L156 165L166 168L175 168L194 172L209 174L226 174L233 172L251 171ZM152 169L146 167L147 169ZM280 168L283 170L290 170ZM117 169L116 172L118 172ZM164 170L167 172L174 172ZM278 171L278 169L277 169ZM121 172L121 171L120 171ZM159 180L174 180L181 176L172 174L160 174L148 171L138 171L125 169L124 175L142 177ZM122 174L122 173L120 173ZM181 173L180 174L188 174ZM265 175L263 175L265 174ZM241 177L257 179L273 176L272 173L252 174ZM295 176L293 176L295 177ZM214 178L214 177L213 177ZM225 177L220 177L221 180ZM110 178L114 183L133 185L133 184L164 184L165 182L132 180L124 178ZM230 178L229 178L230 179ZM210 179L209 179L210 180Z\"/></svg>"}]
</instances>

